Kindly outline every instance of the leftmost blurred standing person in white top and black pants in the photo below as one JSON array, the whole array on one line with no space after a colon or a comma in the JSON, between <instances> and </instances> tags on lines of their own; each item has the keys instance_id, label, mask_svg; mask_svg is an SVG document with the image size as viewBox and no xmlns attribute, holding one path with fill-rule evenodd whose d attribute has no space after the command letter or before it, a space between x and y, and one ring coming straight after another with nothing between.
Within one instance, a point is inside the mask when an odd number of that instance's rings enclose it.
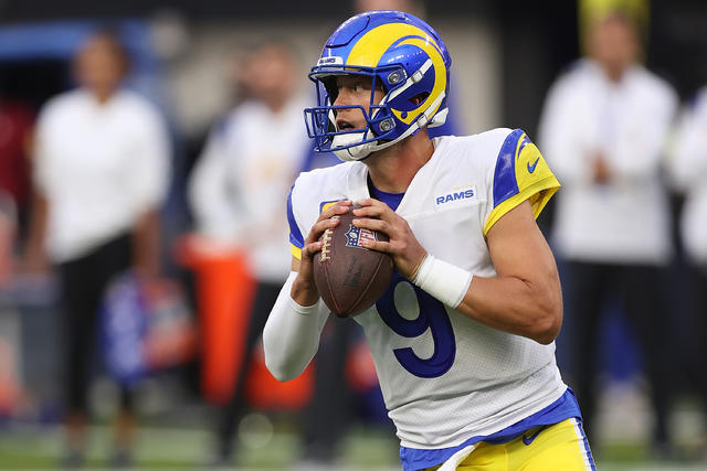
<instances>
[{"instance_id":1,"label":"leftmost blurred standing person in white top and black pants","mask_svg":"<svg viewBox=\"0 0 707 471\"><path fill-rule=\"evenodd\" d=\"M80 87L41 110L35 142L35 205L27 267L56 265L62 281L66 371L66 467L83 462L98 311L106 286L133 268L159 270L158 210L169 178L169 144L157 109L122 88L123 45L109 32L88 36L75 56ZM135 428L128 388L115 421L114 464L131 461Z\"/></svg>"}]
</instances>

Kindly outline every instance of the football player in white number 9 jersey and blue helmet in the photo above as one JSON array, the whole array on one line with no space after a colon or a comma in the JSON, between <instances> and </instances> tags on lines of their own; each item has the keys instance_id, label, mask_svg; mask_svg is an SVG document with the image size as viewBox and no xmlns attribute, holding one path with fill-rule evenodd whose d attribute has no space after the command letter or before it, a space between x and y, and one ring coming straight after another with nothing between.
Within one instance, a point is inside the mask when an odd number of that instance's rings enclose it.
<instances>
[{"instance_id":1,"label":"football player in white number 9 jersey and blue helmet","mask_svg":"<svg viewBox=\"0 0 707 471\"><path fill-rule=\"evenodd\" d=\"M313 256L334 216L354 211L355 225L389 236L366 246L395 266L355 320L403 469L592 470L555 361L560 283L535 222L560 185L520 129L429 138L447 115L450 65L436 32L397 11L356 15L327 41L306 125L347 163L302 173L291 191L293 271L265 327L267 367L292 379L316 353L328 310Z\"/></svg>"}]
</instances>

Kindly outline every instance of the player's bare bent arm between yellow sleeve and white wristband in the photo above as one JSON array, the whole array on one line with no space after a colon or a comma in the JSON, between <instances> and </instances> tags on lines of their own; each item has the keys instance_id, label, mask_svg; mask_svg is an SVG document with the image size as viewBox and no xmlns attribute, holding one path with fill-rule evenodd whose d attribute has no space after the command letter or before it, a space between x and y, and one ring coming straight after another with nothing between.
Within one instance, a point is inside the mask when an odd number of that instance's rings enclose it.
<instances>
[{"instance_id":1,"label":"player's bare bent arm between yellow sleeve and white wristband","mask_svg":"<svg viewBox=\"0 0 707 471\"><path fill-rule=\"evenodd\" d=\"M562 323L555 257L525 201L487 233L497 276L472 279L456 310L492 328L548 344Z\"/></svg>"}]
</instances>

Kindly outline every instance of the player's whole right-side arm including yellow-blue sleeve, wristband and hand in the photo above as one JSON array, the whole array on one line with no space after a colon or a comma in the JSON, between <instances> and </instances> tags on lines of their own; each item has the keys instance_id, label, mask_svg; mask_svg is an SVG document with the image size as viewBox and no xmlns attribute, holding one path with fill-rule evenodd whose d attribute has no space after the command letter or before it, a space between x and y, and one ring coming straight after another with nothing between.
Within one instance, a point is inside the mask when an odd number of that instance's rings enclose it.
<instances>
[{"instance_id":1,"label":"player's whole right-side arm including yellow-blue sleeve, wristband and hand","mask_svg":"<svg viewBox=\"0 0 707 471\"><path fill-rule=\"evenodd\" d=\"M389 236L368 248L389 253L395 269L444 304L492 328L550 343L562 321L562 299L555 258L537 217L559 182L525 132L510 132L488 167L489 194L484 224L497 276L477 277L429 254L405 220L374 200L354 214L377 220L354 224Z\"/></svg>"}]
</instances>

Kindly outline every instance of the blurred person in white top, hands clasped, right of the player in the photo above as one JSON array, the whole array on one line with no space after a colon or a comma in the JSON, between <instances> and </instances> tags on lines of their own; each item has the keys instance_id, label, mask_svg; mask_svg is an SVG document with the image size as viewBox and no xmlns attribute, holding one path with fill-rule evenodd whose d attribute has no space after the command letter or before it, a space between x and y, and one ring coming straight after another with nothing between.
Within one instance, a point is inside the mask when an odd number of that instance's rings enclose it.
<instances>
[{"instance_id":1,"label":"blurred person in white top, hands clasped, right of the player","mask_svg":"<svg viewBox=\"0 0 707 471\"><path fill-rule=\"evenodd\" d=\"M659 345L665 325L664 268L672 254L661 157L677 107L672 87L637 60L637 26L622 11L585 30L587 56L550 88L540 143L563 184L552 240L567 260L574 385L592 433L600 313L620 295L640 341L656 424L666 446L669 381Z\"/></svg>"}]
</instances>

